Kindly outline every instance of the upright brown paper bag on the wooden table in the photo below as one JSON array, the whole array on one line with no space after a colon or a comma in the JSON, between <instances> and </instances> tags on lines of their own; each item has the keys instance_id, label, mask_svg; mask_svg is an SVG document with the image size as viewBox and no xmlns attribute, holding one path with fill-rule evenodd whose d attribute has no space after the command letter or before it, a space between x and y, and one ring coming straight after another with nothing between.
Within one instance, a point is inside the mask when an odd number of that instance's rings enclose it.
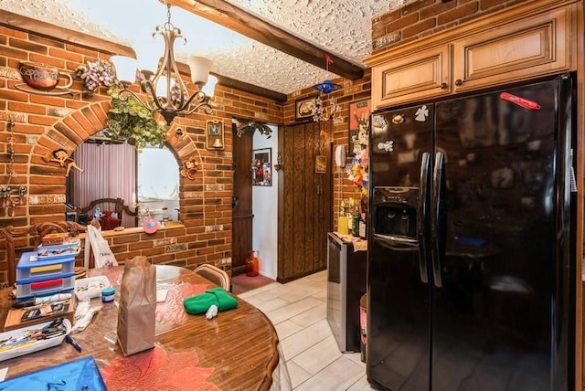
<instances>
[{"instance_id":1,"label":"upright brown paper bag on the wooden table","mask_svg":"<svg viewBox=\"0 0 585 391\"><path fill-rule=\"evenodd\" d=\"M156 269L146 257L124 264L118 308L118 343L124 355L154 347Z\"/></svg>"}]
</instances>

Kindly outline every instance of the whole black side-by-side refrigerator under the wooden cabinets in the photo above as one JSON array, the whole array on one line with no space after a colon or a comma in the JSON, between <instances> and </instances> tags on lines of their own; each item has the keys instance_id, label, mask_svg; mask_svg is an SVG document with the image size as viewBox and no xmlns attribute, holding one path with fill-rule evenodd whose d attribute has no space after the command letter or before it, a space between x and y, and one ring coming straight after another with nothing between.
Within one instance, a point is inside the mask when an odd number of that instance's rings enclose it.
<instances>
[{"instance_id":1,"label":"whole black side-by-side refrigerator under the wooden cabinets","mask_svg":"<svg viewBox=\"0 0 585 391\"><path fill-rule=\"evenodd\" d=\"M367 379L574 386L574 75L374 112Z\"/></svg>"}]
</instances>

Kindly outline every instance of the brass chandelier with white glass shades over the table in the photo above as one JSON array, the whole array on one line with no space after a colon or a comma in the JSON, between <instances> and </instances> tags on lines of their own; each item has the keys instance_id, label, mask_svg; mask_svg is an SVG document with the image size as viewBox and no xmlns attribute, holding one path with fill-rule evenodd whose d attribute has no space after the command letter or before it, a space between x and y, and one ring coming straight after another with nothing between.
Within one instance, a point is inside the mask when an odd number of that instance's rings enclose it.
<instances>
[{"instance_id":1,"label":"brass chandelier with white glass shades over the table","mask_svg":"<svg viewBox=\"0 0 585 391\"><path fill-rule=\"evenodd\" d=\"M155 72L137 69L136 60L123 56L112 56L111 60L116 68L117 79L122 83L120 95L133 95L147 110L159 112L167 125L173 122L177 115L189 115L199 109L207 114L213 111L209 105L209 99L213 97L213 90L218 79L209 75L213 63L202 57L189 57L186 63L191 69L191 80L197 90L189 96L186 83L181 78L175 61L175 40L186 38L181 35L181 30L171 23L171 5L165 0L159 0L166 5L166 23L156 26L153 37L160 34L165 40L165 53L158 63ZM128 89L128 86L136 80L137 71L142 73L140 85L148 100L144 102L136 93ZM139 74L140 74L139 73Z\"/></svg>"}]
</instances>

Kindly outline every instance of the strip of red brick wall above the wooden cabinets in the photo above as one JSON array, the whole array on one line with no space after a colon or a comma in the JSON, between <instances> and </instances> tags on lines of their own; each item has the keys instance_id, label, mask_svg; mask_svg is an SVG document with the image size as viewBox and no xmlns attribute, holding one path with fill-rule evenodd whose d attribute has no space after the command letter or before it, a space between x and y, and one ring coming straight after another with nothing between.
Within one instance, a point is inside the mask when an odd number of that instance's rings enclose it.
<instances>
[{"instance_id":1,"label":"strip of red brick wall above the wooden cabinets","mask_svg":"<svg viewBox=\"0 0 585 391\"><path fill-rule=\"evenodd\" d=\"M372 51L429 36L529 0L420 0L372 19Z\"/></svg>"}]
</instances>

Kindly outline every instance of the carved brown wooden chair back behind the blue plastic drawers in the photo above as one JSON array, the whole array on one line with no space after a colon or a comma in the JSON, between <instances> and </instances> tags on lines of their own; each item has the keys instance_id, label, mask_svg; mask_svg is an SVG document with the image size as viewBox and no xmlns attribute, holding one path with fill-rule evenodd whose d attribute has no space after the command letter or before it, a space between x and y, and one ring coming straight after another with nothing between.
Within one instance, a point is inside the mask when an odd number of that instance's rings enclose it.
<instances>
[{"instance_id":1,"label":"carved brown wooden chair back behind the blue plastic drawers","mask_svg":"<svg viewBox=\"0 0 585 391\"><path fill-rule=\"evenodd\" d=\"M7 280L8 286L13 287L16 283L16 241L19 241L19 248L30 248L29 237L33 239L33 249L41 244L44 236L51 233L69 232L71 236L77 236L84 232L85 227L73 221L56 221L34 224L30 227L8 226L0 229L0 235L6 242Z\"/></svg>"}]
</instances>

